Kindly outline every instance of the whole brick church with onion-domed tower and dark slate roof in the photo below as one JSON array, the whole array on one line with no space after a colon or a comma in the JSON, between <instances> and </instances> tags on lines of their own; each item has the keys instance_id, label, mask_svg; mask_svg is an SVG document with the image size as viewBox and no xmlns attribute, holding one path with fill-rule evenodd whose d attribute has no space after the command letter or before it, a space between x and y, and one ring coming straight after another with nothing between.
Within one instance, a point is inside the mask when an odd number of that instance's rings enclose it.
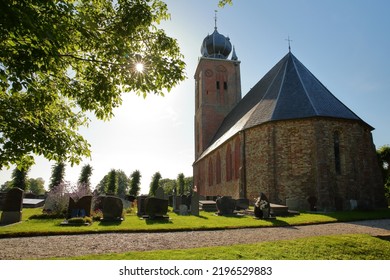
<instances>
[{"instance_id":1,"label":"whole brick church with onion-domed tower and dark slate roof","mask_svg":"<svg viewBox=\"0 0 390 280\"><path fill-rule=\"evenodd\" d=\"M240 61L217 27L201 54L194 77L199 194L253 203L263 192L293 210L386 206L373 127L291 50L243 98Z\"/></svg>"}]
</instances>

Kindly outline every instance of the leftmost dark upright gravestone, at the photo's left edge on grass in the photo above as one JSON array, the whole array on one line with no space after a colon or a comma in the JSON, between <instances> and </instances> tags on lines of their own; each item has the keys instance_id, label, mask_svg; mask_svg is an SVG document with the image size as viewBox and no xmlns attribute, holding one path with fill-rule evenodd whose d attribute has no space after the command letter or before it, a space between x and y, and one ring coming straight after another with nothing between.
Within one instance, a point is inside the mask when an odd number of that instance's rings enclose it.
<instances>
[{"instance_id":1,"label":"leftmost dark upright gravestone, at the photo's left edge on grass","mask_svg":"<svg viewBox=\"0 0 390 280\"><path fill-rule=\"evenodd\" d=\"M2 207L1 224L13 224L22 220L23 193L19 188L12 188L7 192Z\"/></svg>"}]
</instances>

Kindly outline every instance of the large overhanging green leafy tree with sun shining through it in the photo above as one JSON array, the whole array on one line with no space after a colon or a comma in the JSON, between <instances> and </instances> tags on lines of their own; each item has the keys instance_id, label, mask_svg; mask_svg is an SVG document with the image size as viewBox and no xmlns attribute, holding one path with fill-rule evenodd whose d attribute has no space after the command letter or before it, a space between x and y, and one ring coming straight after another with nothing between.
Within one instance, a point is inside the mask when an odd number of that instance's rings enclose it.
<instances>
[{"instance_id":1,"label":"large overhanging green leafy tree with sun shining through it","mask_svg":"<svg viewBox=\"0 0 390 280\"><path fill-rule=\"evenodd\" d=\"M90 156L87 112L108 120L122 93L184 80L178 43L158 28L169 18L161 0L2 0L0 168L35 155L78 164Z\"/></svg>"}]
</instances>

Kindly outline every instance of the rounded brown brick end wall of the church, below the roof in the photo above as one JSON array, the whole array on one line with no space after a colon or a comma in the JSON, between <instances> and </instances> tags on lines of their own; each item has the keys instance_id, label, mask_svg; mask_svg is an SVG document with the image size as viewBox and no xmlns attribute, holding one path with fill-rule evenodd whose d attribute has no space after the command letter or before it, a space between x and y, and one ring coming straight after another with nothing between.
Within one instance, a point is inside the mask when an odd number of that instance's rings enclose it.
<instances>
[{"instance_id":1,"label":"rounded brown brick end wall of the church, below the roof","mask_svg":"<svg viewBox=\"0 0 390 280\"><path fill-rule=\"evenodd\" d=\"M339 135L336 167L335 133ZM270 122L245 131L246 194L308 210L383 206L383 184L368 126L337 119ZM339 170L337 170L339 169Z\"/></svg>"}]
</instances>

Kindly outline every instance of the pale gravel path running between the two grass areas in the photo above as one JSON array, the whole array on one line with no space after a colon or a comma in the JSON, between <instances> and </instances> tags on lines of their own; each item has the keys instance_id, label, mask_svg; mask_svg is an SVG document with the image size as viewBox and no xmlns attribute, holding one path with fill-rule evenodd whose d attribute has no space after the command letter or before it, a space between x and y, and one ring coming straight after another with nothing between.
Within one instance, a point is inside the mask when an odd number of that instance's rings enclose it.
<instances>
[{"instance_id":1,"label":"pale gravel path running between the two grass areas","mask_svg":"<svg viewBox=\"0 0 390 280\"><path fill-rule=\"evenodd\" d=\"M0 260L48 259L86 254L211 247L349 233L390 235L390 219L217 231L5 238L0 239Z\"/></svg>"}]
</instances>

